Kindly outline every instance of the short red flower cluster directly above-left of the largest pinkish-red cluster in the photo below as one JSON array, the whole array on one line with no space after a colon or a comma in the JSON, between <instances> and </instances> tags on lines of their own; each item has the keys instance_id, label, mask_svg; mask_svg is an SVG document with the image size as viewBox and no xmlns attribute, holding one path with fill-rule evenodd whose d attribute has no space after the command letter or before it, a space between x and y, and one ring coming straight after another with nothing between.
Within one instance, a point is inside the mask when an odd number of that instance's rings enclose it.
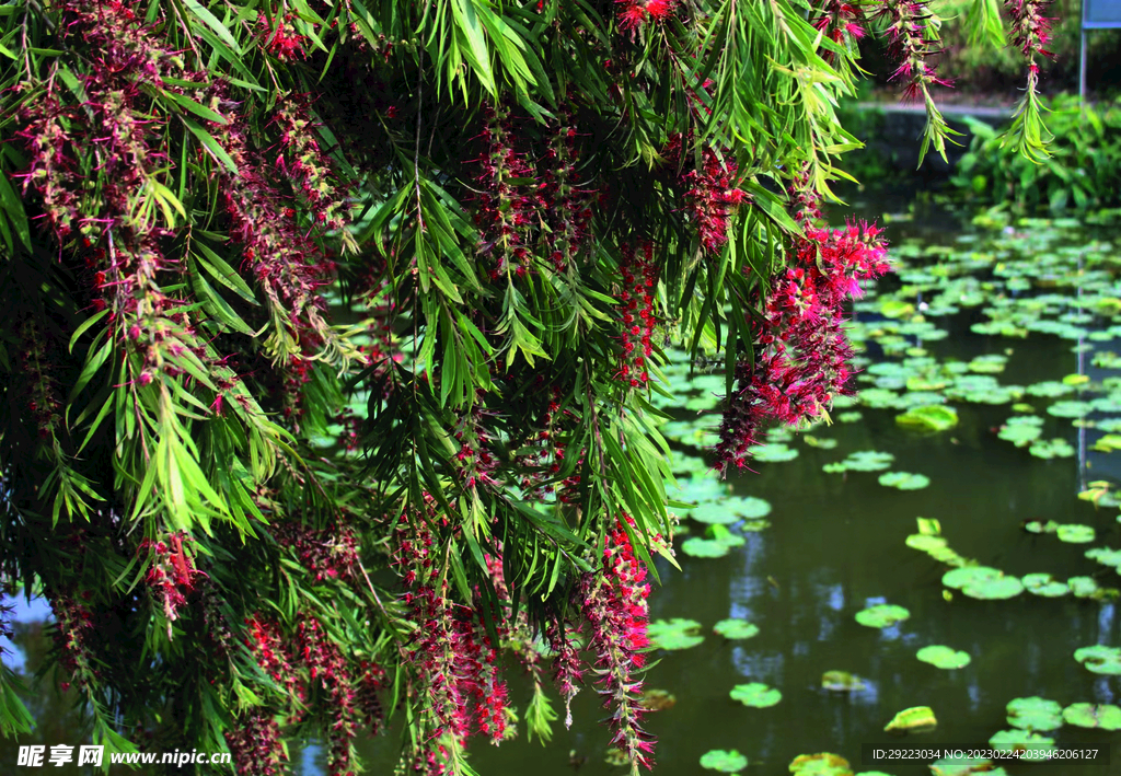
<instances>
[{"instance_id":1,"label":"short red flower cluster directly above-left of the largest pinkish-red cluster","mask_svg":"<svg viewBox=\"0 0 1121 776\"><path fill-rule=\"evenodd\" d=\"M666 144L663 155L674 167L680 167L683 154L688 154L687 140L678 133L670 136ZM719 252L728 242L732 215L748 198L747 193L732 185L736 170L734 159L722 159L714 148L705 146L701 149L701 169L689 165L688 172L680 176L686 207L701 244L708 253Z\"/></svg>"}]
</instances>

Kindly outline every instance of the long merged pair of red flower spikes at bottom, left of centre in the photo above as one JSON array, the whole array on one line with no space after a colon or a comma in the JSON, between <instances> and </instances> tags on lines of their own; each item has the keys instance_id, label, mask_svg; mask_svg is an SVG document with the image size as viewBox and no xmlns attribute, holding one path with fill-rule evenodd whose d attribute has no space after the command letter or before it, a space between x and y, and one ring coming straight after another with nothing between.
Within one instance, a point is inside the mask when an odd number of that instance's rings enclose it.
<instances>
[{"instance_id":1,"label":"long merged pair of red flower spikes at bottom, left of centre","mask_svg":"<svg viewBox=\"0 0 1121 776\"><path fill-rule=\"evenodd\" d=\"M402 515L396 535L395 563L408 589L404 603L416 625L408 660L425 699L421 750L413 766L435 776L457 761L472 735L502 740L507 692L481 615L447 598L445 561L425 518L417 514L410 521Z\"/></svg>"}]
</instances>

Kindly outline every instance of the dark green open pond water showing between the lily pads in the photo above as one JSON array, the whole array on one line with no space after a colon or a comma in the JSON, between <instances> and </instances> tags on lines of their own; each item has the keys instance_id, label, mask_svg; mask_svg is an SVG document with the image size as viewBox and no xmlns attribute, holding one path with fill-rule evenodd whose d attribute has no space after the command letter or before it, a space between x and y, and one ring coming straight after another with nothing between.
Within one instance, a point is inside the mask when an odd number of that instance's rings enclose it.
<instances>
[{"instance_id":1,"label":"dark green open pond water showing between the lily pads","mask_svg":"<svg viewBox=\"0 0 1121 776\"><path fill-rule=\"evenodd\" d=\"M900 242L916 235L934 244L955 241L945 221L925 228L899 224L890 232ZM898 285L889 280L887 287ZM1001 384L1059 380L1080 369L1095 379L1108 373L1088 368L1088 354L1080 362L1071 340L1043 334L1009 340L970 332L972 323L984 320L979 308L939 318L938 326L949 336L929 343L930 354L969 360L1011 348L1008 368L998 376ZM879 348L873 345L869 354L880 358ZM1035 401L1039 407L1047 404ZM1043 695L1064 706L1118 701L1117 677L1095 675L1073 658L1080 647L1121 645L1115 603L1027 593L982 601L956 592L946 601L941 579L947 566L904 542L915 533L916 517L936 518L955 551L1008 574L1047 572L1064 580L1092 575L1103 585L1117 585L1111 569L1083 553L1091 546L1121 545L1118 509L1095 509L1076 495L1087 481L1121 480L1121 468L1111 463L1109 454L1088 450L1100 433L1080 432L1068 419L1040 413L1043 436L1066 438L1077 451L1073 458L1048 461L997 438L995 428L1011 415L1008 404L952 404L961 423L938 434L897 427L897 410L858 406L853 409L863 414L863 421L814 429L817 436L836 440L834 450L789 442L799 451L797 459L760 463L757 473L730 480L735 493L773 505L769 528L745 533L745 544L723 558L678 553L680 572L660 563L665 583L650 597L651 619L692 618L702 623L705 640L689 650L658 653L660 663L647 675L648 687L665 689L677 698L676 705L648 718L649 730L659 739L655 774L712 773L698 765L704 752L736 749L750 760L744 773L758 776L787 774L796 756L819 751L846 757L856 773L919 776L930 773L929 759L863 761L862 745L980 748L1009 728L1004 706L1015 698ZM678 416L695 413L678 412ZM717 422L719 416L712 415L711 424ZM678 450L701 454L687 446ZM891 452L893 471L923 473L930 486L899 491L879 484L877 472L822 472L823 464L859 450ZM1096 529L1097 538L1093 544L1063 544L1054 535L1026 533L1021 527L1026 520L1084 524ZM692 528L697 534L703 526ZM904 606L910 618L882 630L855 622L855 612L879 602ZM712 626L728 617L758 625L759 635L726 641L712 634ZM22 630L20 641L34 664L44 645L34 638L35 627ZM934 644L964 650L972 662L942 671L916 659L919 648ZM821 676L831 669L858 674L867 689L852 694L822 690ZM777 687L782 700L768 709L744 708L729 698L729 691L747 682ZM511 701L520 708L528 701L527 687L517 678ZM38 699L36 713L44 730L35 742L78 742L67 740L73 718L59 703L53 694ZM882 731L896 712L916 705L934 710L936 730L904 739ZM603 715L593 690L585 689L574 703L572 730L555 723L550 745L529 742L524 732L500 748L475 743L472 764L482 776L619 776L626 772L604 761L609 736L597 724ZM363 755L377 764L373 773L390 773L397 732L363 742ZM1121 774L1121 750L1115 748L1121 733L1065 726L1055 737L1063 745L1113 747L1113 764L1104 764L1103 751L1095 763L1001 765L1013 776ZM295 773L325 773L316 747L294 755ZM15 763L13 742L0 745L0 758ZM16 770L8 765L0 768Z\"/></svg>"}]
</instances>

